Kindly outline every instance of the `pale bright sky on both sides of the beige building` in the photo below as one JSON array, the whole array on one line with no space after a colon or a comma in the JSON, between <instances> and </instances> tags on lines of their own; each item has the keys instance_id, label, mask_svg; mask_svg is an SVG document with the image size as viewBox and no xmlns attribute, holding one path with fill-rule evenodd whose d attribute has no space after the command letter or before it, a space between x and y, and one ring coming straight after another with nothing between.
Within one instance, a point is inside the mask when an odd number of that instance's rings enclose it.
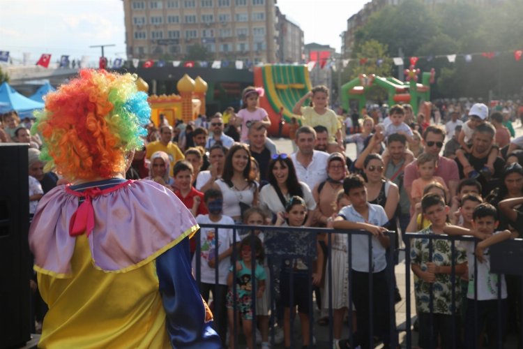
<instances>
[{"instance_id":1,"label":"pale bright sky on both sides of the beige building","mask_svg":"<svg viewBox=\"0 0 523 349\"><path fill-rule=\"evenodd\" d=\"M340 34L347 19L370 0L278 0L282 13L304 31L305 43L331 45L339 52ZM40 54L62 54L80 59L100 56L91 45L105 48L106 57L126 57L123 3L121 0L0 0L0 51L9 51L15 62L24 52L31 61Z\"/></svg>"}]
</instances>

